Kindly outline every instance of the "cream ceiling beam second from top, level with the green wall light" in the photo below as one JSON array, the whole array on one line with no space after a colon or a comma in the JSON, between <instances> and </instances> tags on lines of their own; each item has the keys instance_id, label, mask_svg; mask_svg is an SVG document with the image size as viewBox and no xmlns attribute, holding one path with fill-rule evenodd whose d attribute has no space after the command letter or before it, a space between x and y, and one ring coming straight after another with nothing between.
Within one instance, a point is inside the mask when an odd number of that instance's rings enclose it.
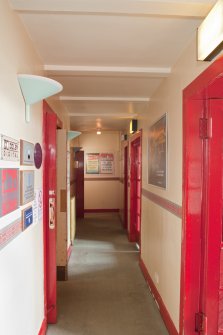
<instances>
[{"instance_id":1,"label":"cream ceiling beam second from top, level with the green wall light","mask_svg":"<svg viewBox=\"0 0 223 335\"><path fill-rule=\"evenodd\" d=\"M168 77L170 67L124 67L124 66L75 66L44 65L51 76L129 76L129 77Z\"/></svg>"}]
</instances>

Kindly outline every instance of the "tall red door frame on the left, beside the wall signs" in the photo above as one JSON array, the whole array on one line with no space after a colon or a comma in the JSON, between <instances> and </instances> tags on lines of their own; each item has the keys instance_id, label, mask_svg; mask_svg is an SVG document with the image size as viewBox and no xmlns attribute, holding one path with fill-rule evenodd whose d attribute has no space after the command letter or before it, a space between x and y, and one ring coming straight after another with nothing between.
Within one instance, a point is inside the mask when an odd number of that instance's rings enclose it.
<instances>
[{"instance_id":1,"label":"tall red door frame on the left, beside the wall signs","mask_svg":"<svg viewBox=\"0 0 223 335\"><path fill-rule=\"evenodd\" d=\"M49 166L56 166L56 148L53 148L53 157L50 156L53 140L56 144L56 129L62 122L43 101L43 242L44 242L44 316L45 323L56 323L56 227L49 229L49 198L56 201L56 169L49 174ZM49 126L51 130L49 131ZM53 130L53 131L52 131ZM55 131L54 131L55 130ZM51 138L51 139L50 139ZM52 169L51 169L52 170ZM55 194L49 194L54 183ZM56 206L56 202L55 202ZM56 218L55 218L56 219Z\"/></svg>"}]
</instances>

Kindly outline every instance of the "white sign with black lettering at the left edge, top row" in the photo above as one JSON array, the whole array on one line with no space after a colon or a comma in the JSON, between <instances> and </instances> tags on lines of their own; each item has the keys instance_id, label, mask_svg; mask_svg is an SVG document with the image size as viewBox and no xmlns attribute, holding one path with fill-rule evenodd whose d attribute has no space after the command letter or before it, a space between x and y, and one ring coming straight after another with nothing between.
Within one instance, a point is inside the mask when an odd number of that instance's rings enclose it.
<instances>
[{"instance_id":1,"label":"white sign with black lettering at the left edge, top row","mask_svg":"<svg viewBox=\"0 0 223 335\"><path fill-rule=\"evenodd\" d=\"M0 159L4 161L19 161L19 141L0 135Z\"/></svg>"}]
</instances>

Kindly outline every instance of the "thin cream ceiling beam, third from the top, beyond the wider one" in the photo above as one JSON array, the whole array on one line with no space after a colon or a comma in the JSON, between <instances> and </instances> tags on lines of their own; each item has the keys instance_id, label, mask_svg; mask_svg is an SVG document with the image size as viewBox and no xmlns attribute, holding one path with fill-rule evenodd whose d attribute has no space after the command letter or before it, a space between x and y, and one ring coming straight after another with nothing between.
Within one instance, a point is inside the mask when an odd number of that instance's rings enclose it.
<instances>
[{"instance_id":1,"label":"thin cream ceiling beam, third from the top, beyond the wider one","mask_svg":"<svg viewBox=\"0 0 223 335\"><path fill-rule=\"evenodd\" d=\"M61 101L91 101L91 102L149 102L147 97L74 97L60 96Z\"/></svg>"}]
</instances>

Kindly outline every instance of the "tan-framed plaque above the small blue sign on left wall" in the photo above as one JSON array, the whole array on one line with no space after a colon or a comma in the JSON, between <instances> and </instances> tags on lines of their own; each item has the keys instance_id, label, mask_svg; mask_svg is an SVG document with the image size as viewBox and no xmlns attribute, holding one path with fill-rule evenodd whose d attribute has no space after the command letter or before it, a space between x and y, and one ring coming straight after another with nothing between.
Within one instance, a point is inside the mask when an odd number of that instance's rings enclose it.
<instances>
[{"instance_id":1,"label":"tan-framed plaque above the small blue sign on left wall","mask_svg":"<svg viewBox=\"0 0 223 335\"><path fill-rule=\"evenodd\" d=\"M20 204L34 200L34 171L20 172Z\"/></svg>"}]
</instances>

